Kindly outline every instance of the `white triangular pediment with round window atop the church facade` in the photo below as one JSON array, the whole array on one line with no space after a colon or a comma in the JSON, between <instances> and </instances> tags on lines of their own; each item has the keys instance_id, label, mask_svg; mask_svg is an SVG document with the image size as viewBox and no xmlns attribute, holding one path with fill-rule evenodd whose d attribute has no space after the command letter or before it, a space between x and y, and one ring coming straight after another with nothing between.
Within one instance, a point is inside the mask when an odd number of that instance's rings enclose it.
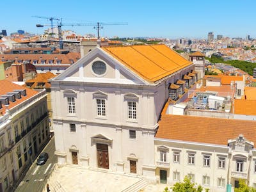
<instances>
[{"instance_id":1,"label":"white triangular pediment with round window atop the church facade","mask_svg":"<svg viewBox=\"0 0 256 192\"><path fill-rule=\"evenodd\" d=\"M53 81L58 80L88 83L148 84L145 79L132 72L99 47L93 49L53 79Z\"/></svg>"}]
</instances>

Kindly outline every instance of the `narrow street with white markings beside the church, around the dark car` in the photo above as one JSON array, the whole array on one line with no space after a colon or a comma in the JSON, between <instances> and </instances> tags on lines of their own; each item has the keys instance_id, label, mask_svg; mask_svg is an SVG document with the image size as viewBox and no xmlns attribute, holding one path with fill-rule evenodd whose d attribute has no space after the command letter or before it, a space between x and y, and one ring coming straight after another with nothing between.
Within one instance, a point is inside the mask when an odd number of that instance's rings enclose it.
<instances>
[{"instance_id":1,"label":"narrow street with white markings beside the church, around the dark car","mask_svg":"<svg viewBox=\"0 0 256 192\"><path fill-rule=\"evenodd\" d=\"M55 143L54 137L49 141L42 152L47 152L49 158L43 165L37 165L36 160L33 162L31 168L29 168L22 182L20 182L18 188L15 191L42 191L45 186L45 181L51 174L51 169L54 164L57 163L57 158L54 156Z\"/></svg>"}]
</instances>

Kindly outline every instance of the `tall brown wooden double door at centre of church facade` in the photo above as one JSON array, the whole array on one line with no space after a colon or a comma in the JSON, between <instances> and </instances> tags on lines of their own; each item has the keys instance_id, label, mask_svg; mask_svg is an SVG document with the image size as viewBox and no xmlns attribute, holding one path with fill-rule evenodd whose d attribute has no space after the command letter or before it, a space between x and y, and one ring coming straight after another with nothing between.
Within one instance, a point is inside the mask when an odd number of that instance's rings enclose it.
<instances>
[{"instance_id":1,"label":"tall brown wooden double door at centre of church facade","mask_svg":"<svg viewBox=\"0 0 256 192\"><path fill-rule=\"evenodd\" d=\"M108 145L97 143L97 158L99 168L109 168Z\"/></svg>"}]
</instances>

